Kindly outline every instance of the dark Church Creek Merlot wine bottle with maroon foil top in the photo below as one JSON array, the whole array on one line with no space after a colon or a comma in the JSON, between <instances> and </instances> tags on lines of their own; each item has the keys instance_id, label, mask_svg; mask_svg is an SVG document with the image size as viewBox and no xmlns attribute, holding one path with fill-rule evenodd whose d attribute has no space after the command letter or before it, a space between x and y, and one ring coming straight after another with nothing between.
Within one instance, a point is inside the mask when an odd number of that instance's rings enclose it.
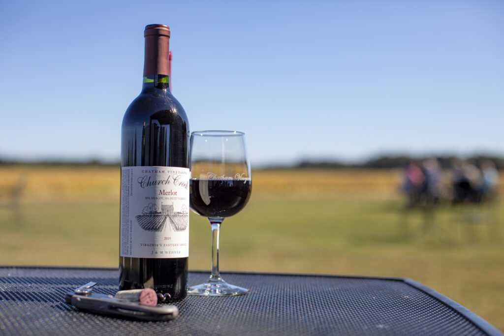
<instances>
[{"instance_id":1,"label":"dark Church Creek Merlot wine bottle with maroon foil top","mask_svg":"<svg viewBox=\"0 0 504 336\"><path fill-rule=\"evenodd\" d=\"M189 124L169 86L170 28L148 25L144 37L142 91L121 127L119 289L176 301L187 294Z\"/></svg>"}]
</instances>

